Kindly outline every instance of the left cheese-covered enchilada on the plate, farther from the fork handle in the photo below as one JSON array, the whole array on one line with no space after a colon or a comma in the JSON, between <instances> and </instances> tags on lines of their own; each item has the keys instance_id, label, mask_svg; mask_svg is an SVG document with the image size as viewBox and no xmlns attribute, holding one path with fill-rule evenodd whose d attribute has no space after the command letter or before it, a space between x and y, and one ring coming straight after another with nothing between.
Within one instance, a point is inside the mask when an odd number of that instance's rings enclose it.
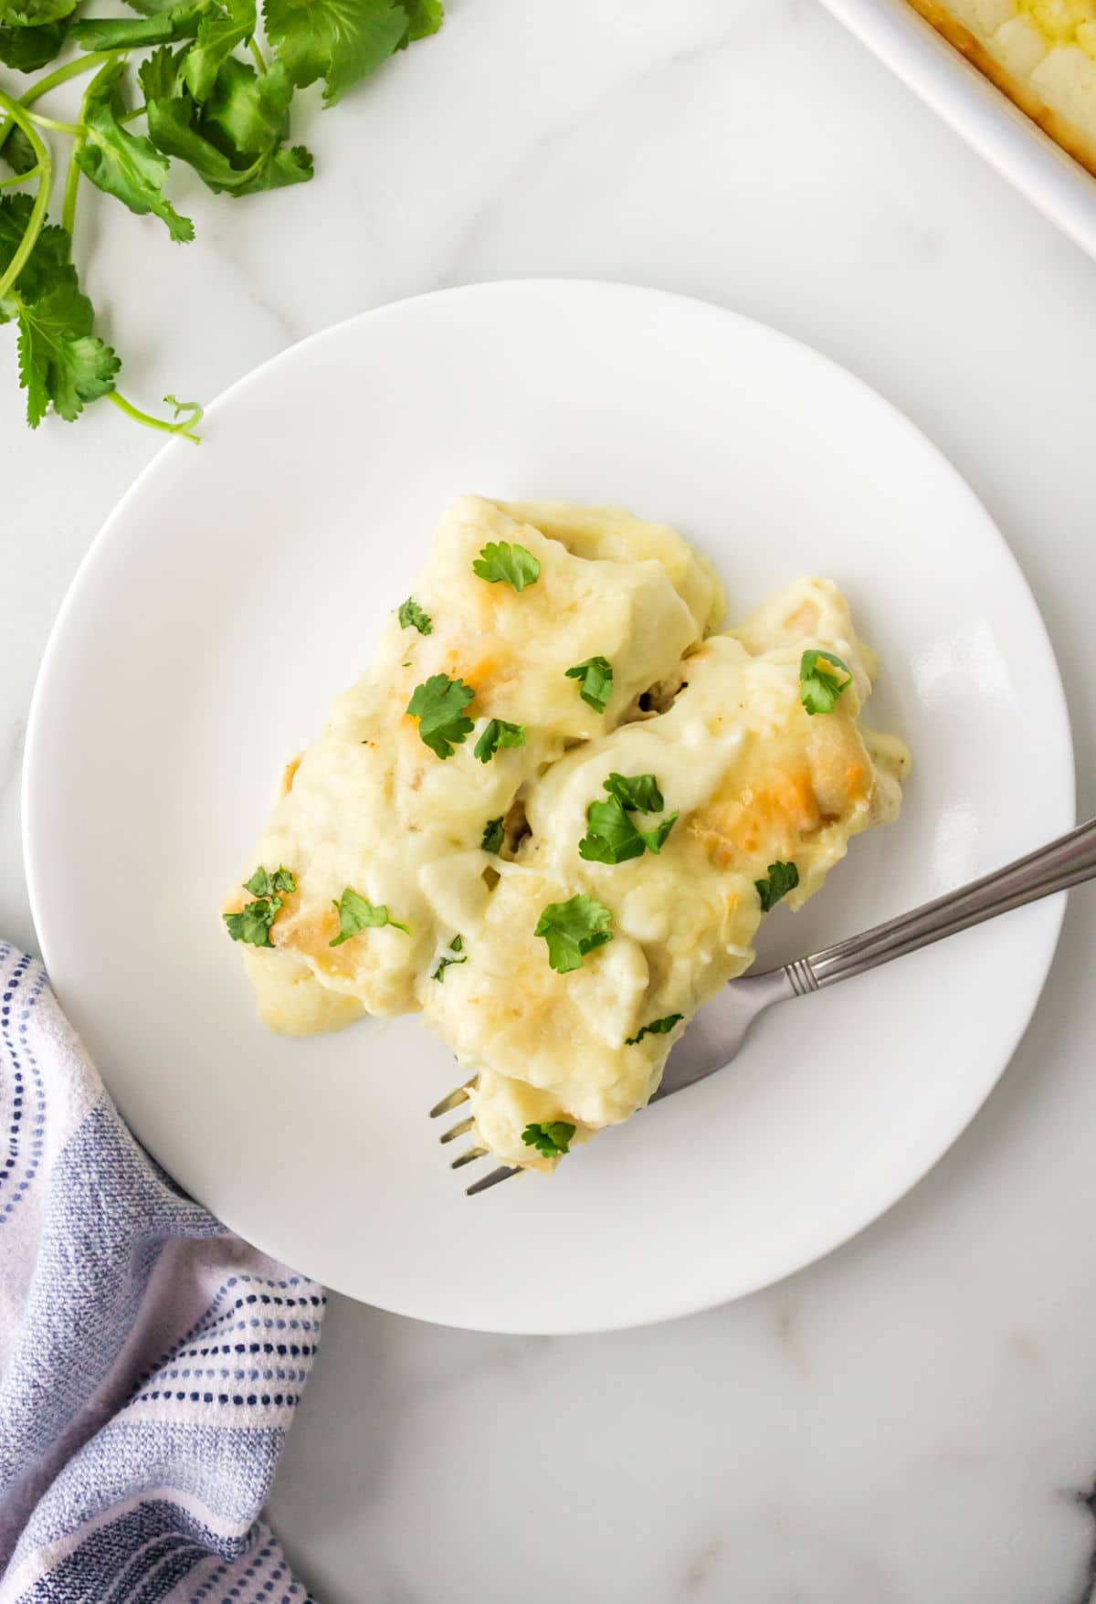
<instances>
[{"instance_id":1,"label":"left cheese-covered enchilada on the plate, farther from the fork handle","mask_svg":"<svg viewBox=\"0 0 1096 1604\"><path fill-rule=\"evenodd\" d=\"M554 513L552 528L566 529L560 508ZM290 866L298 887L271 930L281 962L268 950L247 953L260 1015L274 1030L308 1035L363 1012L414 1009L424 970L461 929L435 908L448 860L478 855L488 820L505 816L568 744L613 728L640 693L674 674L722 611L719 582L680 536L658 525L635 528L629 555L626 515L610 512L599 525L584 510L571 552L481 497L451 507L416 587L432 632L388 621L371 669L335 701L255 849L255 861ZM531 552L541 563L538 582L515 592L477 577L472 565L488 541ZM566 669L592 656L613 664L605 714L566 678ZM475 690L475 733L448 760L422 743L404 711L433 674ZM523 723L525 746L478 762L473 744L488 719ZM481 869L480 860L473 879ZM388 908L412 935L388 926L332 948L332 905L347 885ZM234 897L226 908L241 903ZM339 994L337 1007L329 993Z\"/></svg>"}]
</instances>

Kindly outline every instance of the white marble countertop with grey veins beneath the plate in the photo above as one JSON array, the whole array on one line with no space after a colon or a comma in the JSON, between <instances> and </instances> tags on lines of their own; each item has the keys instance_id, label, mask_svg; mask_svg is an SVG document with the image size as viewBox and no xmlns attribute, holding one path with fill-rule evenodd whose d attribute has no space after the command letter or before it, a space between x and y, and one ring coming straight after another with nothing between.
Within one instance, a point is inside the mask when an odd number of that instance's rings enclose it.
<instances>
[{"instance_id":1,"label":"white marble countertop with grey veins beneath the plate","mask_svg":"<svg viewBox=\"0 0 1096 1604\"><path fill-rule=\"evenodd\" d=\"M1096 266L814 0L449 0L436 40L305 136L311 186L188 191L185 250L112 204L99 233L88 207L90 287L136 399L207 399L313 329L483 277L632 279L751 313L894 399L997 516L1059 651L1093 812ZM30 688L157 441L104 406L30 436L10 335L0 366L0 929L34 948ZM271 1511L319 1598L1088 1599L1094 942L1078 892L971 1131L781 1286L578 1339L335 1298Z\"/></svg>"}]
</instances>

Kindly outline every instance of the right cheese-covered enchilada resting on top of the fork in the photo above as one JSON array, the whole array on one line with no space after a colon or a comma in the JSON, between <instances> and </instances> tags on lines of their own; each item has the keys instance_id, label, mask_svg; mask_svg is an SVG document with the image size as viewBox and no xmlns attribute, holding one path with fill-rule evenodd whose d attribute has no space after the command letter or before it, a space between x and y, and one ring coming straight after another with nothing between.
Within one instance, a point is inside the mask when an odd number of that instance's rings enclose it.
<instances>
[{"instance_id":1,"label":"right cheese-covered enchilada resting on top of the fork","mask_svg":"<svg viewBox=\"0 0 1096 1604\"><path fill-rule=\"evenodd\" d=\"M809 646L854 674L830 715L810 717L799 701ZM669 1014L688 1020L753 962L756 882L770 863L796 865L788 903L798 908L852 836L897 816L907 754L860 731L870 678L833 585L793 585L733 635L704 642L684 670L668 712L586 743L542 776L528 800L531 834L504 868L469 962L444 986L420 988L428 1023L480 1073L480 1134L507 1163L528 1161L526 1115L589 1134L648 1100L677 1033L629 1038ZM653 773L664 812L679 813L658 857L579 857L586 810L613 772ZM610 908L613 940L557 975L536 921L576 892ZM528 1113L526 1086L550 1094L549 1113Z\"/></svg>"}]
</instances>

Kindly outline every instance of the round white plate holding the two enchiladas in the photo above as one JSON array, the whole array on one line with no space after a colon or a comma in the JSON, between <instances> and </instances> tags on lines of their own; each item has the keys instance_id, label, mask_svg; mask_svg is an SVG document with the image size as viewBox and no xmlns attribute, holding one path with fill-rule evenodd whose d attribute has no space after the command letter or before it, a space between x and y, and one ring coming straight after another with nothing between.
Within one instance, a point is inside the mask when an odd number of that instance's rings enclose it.
<instances>
[{"instance_id":1,"label":"round white plate holding the two enchiladas","mask_svg":"<svg viewBox=\"0 0 1096 1604\"><path fill-rule=\"evenodd\" d=\"M260 1248L355 1298L491 1331L685 1314L790 1274L911 1187L1027 1025L1061 898L762 1022L741 1059L478 1198L416 1019L290 1041L255 1023L218 905L282 762L321 727L462 491L626 504L716 558L741 616L836 577L910 741L902 821L852 844L761 958L849 935L1074 820L1057 669L955 470L802 345L698 302L515 282L294 346L125 496L58 619L30 720L37 929L124 1115Z\"/></svg>"}]
</instances>

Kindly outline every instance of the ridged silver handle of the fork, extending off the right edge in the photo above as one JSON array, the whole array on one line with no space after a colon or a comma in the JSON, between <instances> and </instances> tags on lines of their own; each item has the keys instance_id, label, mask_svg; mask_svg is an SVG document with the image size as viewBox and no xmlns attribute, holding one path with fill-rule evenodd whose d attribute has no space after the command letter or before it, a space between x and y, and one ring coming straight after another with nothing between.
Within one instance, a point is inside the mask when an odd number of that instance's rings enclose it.
<instances>
[{"instance_id":1,"label":"ridged silver handle of the fork, extending off the right edge","mask_svg":"<svg viewBox=\"0 0 1096 1604\"><path fill-rule=\"evenodd\" d=\"M810 958L796 959L786 966L785 974L798 994L818 991L838 980L862 975L878 964L887 964L892 958L916 953L919 946L929 946L945 935L955 935L956 930L982 924L998 913L1022 908L1024 903L1062 892L1069 885L1080 885L1093 876L1096 876L1096 820L1088 820L1067 836L1059 836L1049 845L1017 858L1003 869L995 869L980 881L947 892L945 897L923 903L911 913L889 919L887 924L876 924L875 929L847 942L838 942L836 946L826 946L822 953L812 953Z\"/></svg>"}]
</instances>

